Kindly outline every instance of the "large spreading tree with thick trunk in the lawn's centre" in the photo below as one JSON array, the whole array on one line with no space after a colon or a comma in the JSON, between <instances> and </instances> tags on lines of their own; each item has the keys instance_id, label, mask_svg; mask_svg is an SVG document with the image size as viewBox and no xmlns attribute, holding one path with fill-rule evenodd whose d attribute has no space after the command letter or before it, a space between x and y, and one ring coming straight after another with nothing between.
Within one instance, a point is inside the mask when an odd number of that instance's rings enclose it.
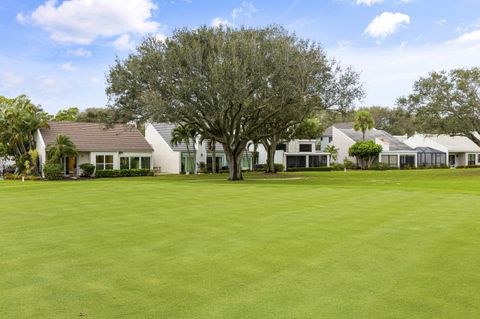
<instances>
[{"instance_id":1,"label":"large spreading tree with thick trunk in the lawn's centre","mask_svg":"<svg viewBox=\"0 0 480 319\"><path fill-rule=\"evenodd\" d=\"M107 93L123 119L191 125L221 143L237 180L249 141L279 140L314 107L341 107L346 94L334 89L356 83L344 74L318 45L279 27L200 27L147 38L110 69Z\"/></svg>"}]
</instances>

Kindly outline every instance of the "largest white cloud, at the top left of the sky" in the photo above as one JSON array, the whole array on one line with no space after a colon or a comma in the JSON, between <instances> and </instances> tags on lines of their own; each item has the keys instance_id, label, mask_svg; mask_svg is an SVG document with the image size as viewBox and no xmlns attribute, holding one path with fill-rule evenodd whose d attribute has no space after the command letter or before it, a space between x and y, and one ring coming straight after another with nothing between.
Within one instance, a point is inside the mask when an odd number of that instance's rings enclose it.
<instances>
[{"instance_id":1,"label":"largest white cloud, at the top left of the sky","mask_svg":"<svg viewBox=\"0 0 480 319\"><path fill-rule=\"evenodd\" d=\"M99 37L156 32L156 9L153 0L48 0L28 17L17 14L17 21L28 19L58 42L90 44Z\"/></svg>"}]
</instances>

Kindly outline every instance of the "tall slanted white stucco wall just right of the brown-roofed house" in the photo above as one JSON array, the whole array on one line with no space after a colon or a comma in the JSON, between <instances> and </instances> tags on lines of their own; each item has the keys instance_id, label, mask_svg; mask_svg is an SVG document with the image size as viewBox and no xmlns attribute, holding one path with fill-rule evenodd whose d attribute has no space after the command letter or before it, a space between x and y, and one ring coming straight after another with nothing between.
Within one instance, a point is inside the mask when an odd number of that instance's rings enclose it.
<instances>
[{"instance_id":1,"label":"tall slanted white stucco wall just right of the brown-roofed house","mask_svg":"<svg viewBox=\"0 0 480 319\"><path fill-rule=\"evenodd\" d=\"M159 167L162 173L179 174L180 152L173 151L151 124L145 129L145 139L153 148L153 167Z\"/></svg>"}]
</instances>

